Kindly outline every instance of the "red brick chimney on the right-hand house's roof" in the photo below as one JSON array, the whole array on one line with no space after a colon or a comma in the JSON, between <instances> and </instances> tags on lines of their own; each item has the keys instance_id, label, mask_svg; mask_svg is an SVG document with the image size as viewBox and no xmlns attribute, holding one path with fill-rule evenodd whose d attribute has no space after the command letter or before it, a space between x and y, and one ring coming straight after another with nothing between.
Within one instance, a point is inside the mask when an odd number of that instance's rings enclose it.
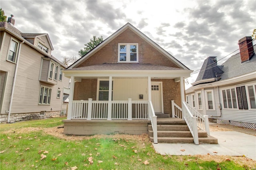
<instances>
[{"instance_id":1,"label":"red brick chimney on the right-hand house's roof","mask_svg":"<svg viewBox=\"0 0 256 170\"><path fill-rule=\"evenodd\" d=\"M238 41L242 63L249 61L254 55L252 37L244 37Z\"/></svg>"}]
</instances>

